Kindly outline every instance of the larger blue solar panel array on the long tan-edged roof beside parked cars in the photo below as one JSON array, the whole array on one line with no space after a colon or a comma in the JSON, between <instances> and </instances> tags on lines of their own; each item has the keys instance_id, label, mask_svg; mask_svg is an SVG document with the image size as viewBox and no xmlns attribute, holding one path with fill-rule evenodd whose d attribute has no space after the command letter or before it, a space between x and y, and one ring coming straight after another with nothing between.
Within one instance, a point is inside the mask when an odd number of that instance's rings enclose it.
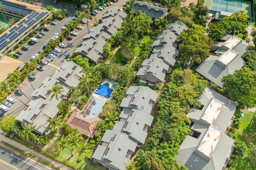
<instances>
[{"instance_id":1,"label":"larger blue solar panel array on the long tan-edged roof beside parked cars","mask_svg":"<svg viewBox=\"0 0 256 170\"><path fill-rule=\"evenodd\" d=\"M43 18L46 14L48 14L48 12L42 12L40 14L34 11L27 17L28 19L20 20L20 22L16 26L13 26L8 33L4 33L4 35L0 37L0 51L12 43L12 41L22 33L27 31L28 28L34 25L34 23Z\"/></svg>"}]
</instances>

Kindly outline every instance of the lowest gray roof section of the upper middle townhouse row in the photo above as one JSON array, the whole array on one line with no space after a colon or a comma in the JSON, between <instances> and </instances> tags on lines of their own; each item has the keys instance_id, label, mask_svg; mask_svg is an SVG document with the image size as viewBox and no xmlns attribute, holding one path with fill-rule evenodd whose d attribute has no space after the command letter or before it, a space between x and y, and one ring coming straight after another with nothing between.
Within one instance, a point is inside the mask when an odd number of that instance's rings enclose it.
<instances>
[{"instance_id":1,"label":"lowest gray roof section of the upper middle townhouse row","mask_svg":"<svg viewBox=\"0 0 256 170\"><path fill-rule=\"evenodd\" d=\"M162 82L165 78L166 71L163 72L163 70L168 70L169 65L167 63L164 63L162 59L155 57L146 59L141 64L141 68L139 68L136 76L139 76L142 78L143 76L149 77L156 80L156 82Z\"/></svg>"}]
</instances>

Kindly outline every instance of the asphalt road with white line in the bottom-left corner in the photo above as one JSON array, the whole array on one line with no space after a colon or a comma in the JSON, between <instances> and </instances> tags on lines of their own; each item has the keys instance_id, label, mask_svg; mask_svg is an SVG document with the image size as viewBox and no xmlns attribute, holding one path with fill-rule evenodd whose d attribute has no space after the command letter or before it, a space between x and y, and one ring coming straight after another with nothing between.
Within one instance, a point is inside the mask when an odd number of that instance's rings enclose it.
<instances>
[{"instance_id":1,"label":"asphalt road with white line in the bottom-left corner","mask_svg":"<svg viewBox=\"0 0 256 170\"><path fill-rule=\"evenodd\" d=\"M1 170L52 170L30 158L0 146Z\"/></svg>"}]
</instances>

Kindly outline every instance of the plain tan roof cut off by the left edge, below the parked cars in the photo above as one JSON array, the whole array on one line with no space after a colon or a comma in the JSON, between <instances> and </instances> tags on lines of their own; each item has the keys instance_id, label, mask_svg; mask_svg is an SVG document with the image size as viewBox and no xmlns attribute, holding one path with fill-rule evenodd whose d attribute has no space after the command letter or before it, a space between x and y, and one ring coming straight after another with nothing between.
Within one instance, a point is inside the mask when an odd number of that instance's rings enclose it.
<instances>
[{"instance_id":1,"label":"plain tan roof cut off by the left edge, below the parked cars","mask_svg":"<svg viewBox=\"0 0 256 170\"><path fill-rule=\"evenodd\" d=\"M8 78L8 74L14 72L22 64L22 61L18 61L8 56L0 58L0 82Z\"/></svg>"}]
</instances>

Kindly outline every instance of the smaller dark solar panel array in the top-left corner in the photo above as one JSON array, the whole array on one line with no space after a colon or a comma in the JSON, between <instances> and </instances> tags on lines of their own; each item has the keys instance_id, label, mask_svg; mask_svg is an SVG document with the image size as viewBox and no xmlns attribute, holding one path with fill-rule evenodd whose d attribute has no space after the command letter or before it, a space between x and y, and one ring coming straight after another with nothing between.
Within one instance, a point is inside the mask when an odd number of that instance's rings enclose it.
<instances>
[{"instance_id":1,"label":"smaller dark solar panel array in the top-left corner","mask_svg":"<svg viewBox=\"0 0 256 170\"><path fill-rule=\"evenodd\" d=\"M13 2L8 2L5 0L0 0L0 2L4 5L4 10L7 11L12 11L14 13L18 13L24 16L32 12L32 10L26 9L26 6L24 5L15 4Z\"/></svg>"}]
</instances>

